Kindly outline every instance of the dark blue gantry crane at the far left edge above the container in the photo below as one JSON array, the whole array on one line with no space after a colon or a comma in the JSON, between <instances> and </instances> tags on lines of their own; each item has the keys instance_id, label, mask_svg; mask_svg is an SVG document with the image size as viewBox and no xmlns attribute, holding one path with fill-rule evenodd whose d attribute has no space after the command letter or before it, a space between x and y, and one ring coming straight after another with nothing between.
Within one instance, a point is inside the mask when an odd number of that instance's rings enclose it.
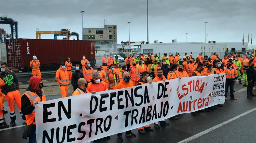
<instances>
[{"instance_id":1,"label":"dark blue gantry crane at the far left edge above the container","mask_svg":"<svg viewBox=\"0 0 256 143\"><path fill-rule=\"evenodd\" d=\"M11 28L11 39L18 39L18 22L8 18L7 16L0 17L0 24L9 24ZM15 29L13 28L15 26ZM14 34L15 32L15 34Z\"/></svg>"}]
</instances>

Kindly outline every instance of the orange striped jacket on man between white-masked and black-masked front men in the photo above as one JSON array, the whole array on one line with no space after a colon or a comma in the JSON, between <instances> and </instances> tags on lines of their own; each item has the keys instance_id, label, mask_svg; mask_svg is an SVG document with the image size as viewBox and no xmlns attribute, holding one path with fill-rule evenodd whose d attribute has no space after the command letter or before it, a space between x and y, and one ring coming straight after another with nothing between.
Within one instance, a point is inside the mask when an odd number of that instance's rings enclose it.
<instances>
[{"instance_id":1,"label":"orange striped jacket on man between white-masked and black-masked front men","mask_svg":"<svg viewBox=\"0 0 256 143\"><path fill-rule=\"evenodd\" d=\"M109 69L106 73L105 81L108 90L114 90L118 84L117 74L115 74L111 69Z\"/></svg>"}]
</instances>

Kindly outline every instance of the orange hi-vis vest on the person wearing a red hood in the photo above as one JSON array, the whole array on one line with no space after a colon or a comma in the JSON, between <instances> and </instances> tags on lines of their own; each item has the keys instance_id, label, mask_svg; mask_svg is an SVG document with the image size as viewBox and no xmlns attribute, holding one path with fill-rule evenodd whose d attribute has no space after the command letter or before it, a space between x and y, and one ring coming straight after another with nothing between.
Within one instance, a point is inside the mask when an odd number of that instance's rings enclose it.
<instances>
[{"instance_id":1,"label":"orange hi-vis vest on the person wearing a red hood","mask_svg":"<svg viewBox=\"0 0 256 143\"><path fill-rule=\"evenodd\" d=\"M38 102L46 101L45 94L44 94L43 90L42 90L42 93L43 93L42 100L36 93L30 92L30 91L26 91L22 96L27 96L28 99L30 100L30 105L32 106L35 101L38 101ZM36 121L34 121L35 111L36 111L36 109L34 108L32 113L25 115L27 125L36 124Z\"/></svg>"}]
</instances>

